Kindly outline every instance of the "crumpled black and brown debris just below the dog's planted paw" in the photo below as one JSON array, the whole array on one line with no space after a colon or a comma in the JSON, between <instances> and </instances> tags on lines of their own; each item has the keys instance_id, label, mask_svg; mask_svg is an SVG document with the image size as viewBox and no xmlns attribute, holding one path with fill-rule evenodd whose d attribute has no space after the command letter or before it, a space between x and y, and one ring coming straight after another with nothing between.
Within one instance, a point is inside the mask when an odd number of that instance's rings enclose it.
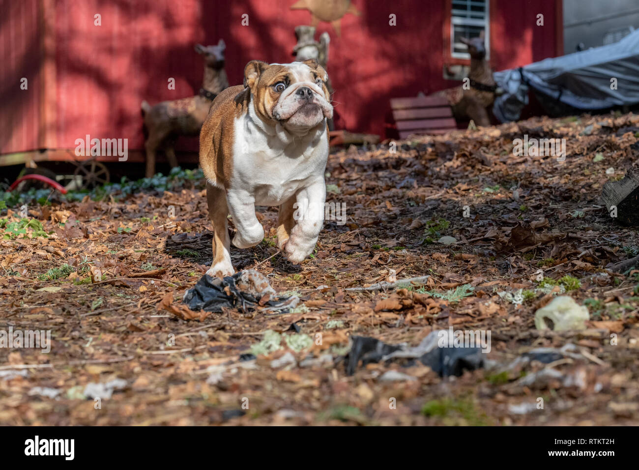
<instances>
[{"instance_id":1,"label":"crumpled black and brown debris just below the dog's planted paw","mask_svg":"<svg viewBox=\"0 0 639 470\"><path fill-rule=\"evenodd\" d=\"M268 295L268 300L259 301ZM250 269L236 272L224 279L204 274L197 284L187 290L182 302L190 309L221 312L222 308L239 308L242 311L265 308L282 311L295 308L299 297L277 297L275 290L263 274Z\"/></svg>"}]
</instances>

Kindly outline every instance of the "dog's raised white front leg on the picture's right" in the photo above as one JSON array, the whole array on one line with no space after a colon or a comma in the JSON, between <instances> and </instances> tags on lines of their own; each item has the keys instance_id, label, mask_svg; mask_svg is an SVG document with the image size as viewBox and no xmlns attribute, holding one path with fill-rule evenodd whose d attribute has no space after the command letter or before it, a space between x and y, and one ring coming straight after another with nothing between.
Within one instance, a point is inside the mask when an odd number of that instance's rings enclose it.
<instances>
[{"instance_id":1,"label":"dog's raised white front leg on the picture's right","mask_svg":"<svg viewBox=\"0 0 639 470\"><path fill-rule=\"evenodd\" d=\"M293 212L296 224L284 245L284 255L291 263L301 263L311 255L324 223L325 200L326 185L323 179L296 194Z\"/></svg>"}]
</instances>

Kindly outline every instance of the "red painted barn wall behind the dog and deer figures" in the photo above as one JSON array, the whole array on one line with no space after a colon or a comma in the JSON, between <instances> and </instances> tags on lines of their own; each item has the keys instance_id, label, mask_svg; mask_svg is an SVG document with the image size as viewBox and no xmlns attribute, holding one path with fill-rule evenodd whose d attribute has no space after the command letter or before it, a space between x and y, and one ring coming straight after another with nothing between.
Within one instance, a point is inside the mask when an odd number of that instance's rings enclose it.
<instances>
[{"instance_id":1,"label":"red painted barn wall behind the dog and deer figures","mask_svg":"<svg viewBox=\"0 0 639 470\"><path fill-rule=\"evenodd\" d=\"M8 67L0 68L0 153L42 146L73 149L75 139L86 134L128 138L129 150L143 148L141 100L154 104L185 97L201 86L203 64L194 43L224 38L231 85L242 82L250 59L291 61L295 26L311 22L307 10L290 10L295 1L1 0L0 59ZM491 1L495 70L560 53L558 3ZM336 123L338 128L383 136L390 98L457 84L442 76L447 1L353 4L361 15L343 17L341 36L330 24L318 27L318 34L328 31L331 36L328 72L335 89ZM47 8L49 13L43 15ZM94 25L96 13L102 26ZM389 26L391 13L397 26ZM544 27L535 26L538 13L544 15ZM244 14L249 15L249 26L242 26ZM50 31L43 34L47 25ZM54 48L47 49L48 37ZM54 61L54 70L43 67L47 57ZM19 90L22 76L29 77L28 92ZM169 77L176 80L175 90L167 89ZM47 98L43 90L49 92L49 107L42 104ZM46 121L39 122L43 114ZM196 150L197 140L186 148Z\"/></svg>"}]
</instances>

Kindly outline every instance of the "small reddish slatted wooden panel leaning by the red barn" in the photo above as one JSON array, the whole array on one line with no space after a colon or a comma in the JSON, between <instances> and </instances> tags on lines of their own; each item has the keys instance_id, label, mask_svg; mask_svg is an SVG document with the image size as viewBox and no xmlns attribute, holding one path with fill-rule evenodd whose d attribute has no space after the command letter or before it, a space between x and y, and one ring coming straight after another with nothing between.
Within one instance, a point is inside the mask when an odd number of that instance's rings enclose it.
<instances>
[{"instance_id":1,"label":"small reddish slatted wooden panel leaning by the red barn","mask_svg":"<svg viewBox=\"0 0 639 470\"><path fill-rule=\"evenodd\" d=\"M400 139L410 134L443 134L457 129L445 97L392 98L390 107Z\"/></svg>"}]
</instances>

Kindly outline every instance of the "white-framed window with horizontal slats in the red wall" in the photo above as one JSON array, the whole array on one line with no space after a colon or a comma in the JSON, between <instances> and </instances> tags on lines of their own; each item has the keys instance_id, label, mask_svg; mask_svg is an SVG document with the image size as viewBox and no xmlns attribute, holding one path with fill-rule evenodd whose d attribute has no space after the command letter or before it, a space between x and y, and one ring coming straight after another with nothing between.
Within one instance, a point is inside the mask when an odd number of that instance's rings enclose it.
<instances>
[{"instance_id":1,"label":"white-framed window with horizontal slats in the red wall","mask_svg":"<svg viewBox=\"0 0 639 470\"><path fill-rule=\"evenodd\" d=\"M450 55L470 59L466 45L460 37L476 38L484 31L486 58L490 56L488 0L452 0L450 12Z\"/></svg>"}]
</instances>

